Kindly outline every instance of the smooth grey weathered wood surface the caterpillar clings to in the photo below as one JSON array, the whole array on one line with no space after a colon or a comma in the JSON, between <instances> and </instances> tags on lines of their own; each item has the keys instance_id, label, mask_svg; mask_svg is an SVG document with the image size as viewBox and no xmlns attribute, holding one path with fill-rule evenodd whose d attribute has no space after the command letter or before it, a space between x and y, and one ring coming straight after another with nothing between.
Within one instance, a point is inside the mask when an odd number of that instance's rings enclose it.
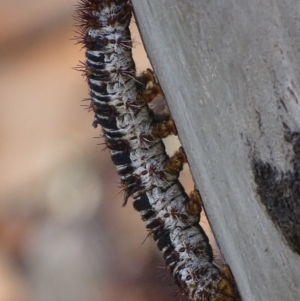
<instances>
[{"instance_id":1,"label":"smooth grey weathered wood surface the caterpillar clings to","mask_svg":"<svg viewBox=\"0 0 300 301\"><path fill-rule=\"evenodd\" d=\"M286 138L300 132L300 1L132 2L243 300L300 300L300 256L263 204L300 167ZM253 162L273 183L255 182Z\"/></svg>"}]
</instances>

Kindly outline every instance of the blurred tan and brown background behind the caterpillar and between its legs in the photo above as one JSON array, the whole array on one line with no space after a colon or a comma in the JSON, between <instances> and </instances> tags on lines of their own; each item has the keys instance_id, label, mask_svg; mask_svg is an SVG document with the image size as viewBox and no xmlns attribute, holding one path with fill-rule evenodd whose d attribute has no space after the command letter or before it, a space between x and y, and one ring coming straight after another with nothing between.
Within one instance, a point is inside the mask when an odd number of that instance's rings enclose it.
<instances>
[{"instance_id":1,"label":"blurred tan and brown background behind the caterpillar and between its legs","mask_svg":"<svg viewBox=\"0 0 300 301\"><path fill-rule=\"evenodd\" d=\"M82 106L76 3L0 0L0 301L175 300ZM150 64L134 23L132 32L141 72ZM193 190L187 168L181 179Z\"/></svg>"}]
</instances>

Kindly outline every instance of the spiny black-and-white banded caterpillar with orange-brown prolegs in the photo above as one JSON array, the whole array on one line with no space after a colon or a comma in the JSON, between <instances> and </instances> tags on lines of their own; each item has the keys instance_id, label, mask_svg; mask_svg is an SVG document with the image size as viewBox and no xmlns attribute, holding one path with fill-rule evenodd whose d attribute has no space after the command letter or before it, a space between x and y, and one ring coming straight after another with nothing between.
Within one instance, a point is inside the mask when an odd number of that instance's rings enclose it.
<instances>
[{"instance_id":1,"label":"spiny black-and-white banded caterpillar with orange-brown prolegs","mask_svg":"<svg viewBox=\"0 0 300 301\"><path fill-rule=\"evenodd\" d=\"M174 122L148 107L161 88L151 70L135 74L131 14L129 0L81 0L77 8L79 41L86 48L86 63L79 69L90 88L93 126L102 126L124 205L133 197L179 292L195 301L238 300L228 268L213 263L199 225L200 196L188 196L178 181L185 154L182 148L172 157L165 152L162 138L176 134Z\"/></svg>"}]
</instances>

